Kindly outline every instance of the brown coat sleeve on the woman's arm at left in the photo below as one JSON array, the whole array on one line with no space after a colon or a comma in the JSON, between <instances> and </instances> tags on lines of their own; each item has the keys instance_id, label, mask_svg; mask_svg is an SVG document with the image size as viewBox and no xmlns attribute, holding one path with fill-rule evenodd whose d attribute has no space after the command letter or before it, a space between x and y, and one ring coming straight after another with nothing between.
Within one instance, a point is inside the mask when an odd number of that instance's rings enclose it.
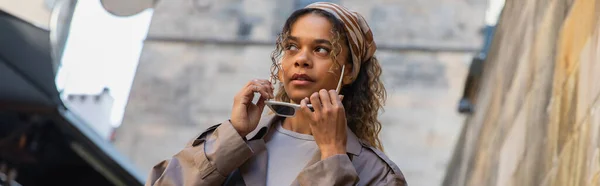
<instances>
[{"instance_id":1,"label":"brown coat sleeve on the woman's arm at left","mask_svg":"<svg viewBox=\"0 0 600 186\"><path fill-rule=\"evenodd\" d=\"M150 172L146 185L221 185L253 152L229 121L207 131L162 161Z\"/></svg>"}]
</instances>

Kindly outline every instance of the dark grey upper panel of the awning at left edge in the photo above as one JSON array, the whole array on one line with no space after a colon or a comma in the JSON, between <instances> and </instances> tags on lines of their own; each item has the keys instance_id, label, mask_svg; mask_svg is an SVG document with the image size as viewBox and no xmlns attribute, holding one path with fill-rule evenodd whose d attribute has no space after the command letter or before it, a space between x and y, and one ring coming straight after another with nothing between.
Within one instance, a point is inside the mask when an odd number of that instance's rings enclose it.
<instances>
[{"instance_id":1,"label":"dark grey upper panel of the awning at left edge","mask_svg":"<svg viewBox=\"0 0 600 186\"><path fill-rule=\"evenodd\" d=\"M50 33L0 11L0 103L56 107Z\"/></svg>"}]
</instances>

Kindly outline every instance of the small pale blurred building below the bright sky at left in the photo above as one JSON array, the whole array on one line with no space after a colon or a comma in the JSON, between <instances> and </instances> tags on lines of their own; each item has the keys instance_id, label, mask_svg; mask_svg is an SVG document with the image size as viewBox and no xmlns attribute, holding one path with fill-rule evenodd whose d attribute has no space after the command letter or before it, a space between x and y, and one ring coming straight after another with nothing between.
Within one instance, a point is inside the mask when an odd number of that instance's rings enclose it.
<instances>
[{"instance_id":1,"label":"small pale blurred building below the bright sky at left","mask_svg":"<svg viewBox=\"0 0 600 186\"><path fill-rule=\"evenodd\" d=\"M103 139L110 140L113 126L110 122L114 99L108 88L96 95L69 94L63 101L74 113L85 120Z\"/></svg>"}]
</instances>

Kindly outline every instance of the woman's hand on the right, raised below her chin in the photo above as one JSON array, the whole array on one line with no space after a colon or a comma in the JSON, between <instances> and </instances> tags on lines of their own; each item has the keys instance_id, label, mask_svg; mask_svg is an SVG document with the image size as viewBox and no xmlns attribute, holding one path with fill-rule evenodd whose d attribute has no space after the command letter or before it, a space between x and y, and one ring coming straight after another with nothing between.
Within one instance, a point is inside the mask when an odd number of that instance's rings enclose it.
<instances>
[{"instance_id":1,"label":"woman's hand on the right, raised below her chin","mask_svg":"<svg viewBox=\"0 0 600 186\"><path fill-rule=\"evenodd\" d=\"M310 98L300 101L303 116L310 121L310 129L321 150L321 159L346 154L346 112L341 96L335 90L321 89ZM314 112L306 106L312 103Z\"/></svg>"}]
</instances>

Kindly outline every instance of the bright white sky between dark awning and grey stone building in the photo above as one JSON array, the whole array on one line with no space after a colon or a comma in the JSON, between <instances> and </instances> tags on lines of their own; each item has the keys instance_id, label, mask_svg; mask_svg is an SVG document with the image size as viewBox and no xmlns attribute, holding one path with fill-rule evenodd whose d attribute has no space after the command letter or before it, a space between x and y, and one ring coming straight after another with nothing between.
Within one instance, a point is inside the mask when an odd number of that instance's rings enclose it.
<instances>
[{"instance_id":1,"label":"bright white sky between dark awning and grey stone building","mask_svg":"<svg viewBox=\"0 0 600 186\"><path fill-rule=\"evenodd\" d=\"M114 98L111 122L121 124L152 10L117 17L99 0L78 1L57 74L64 94L98 94L108 87Z\"/></svg>"}]
</instances>

